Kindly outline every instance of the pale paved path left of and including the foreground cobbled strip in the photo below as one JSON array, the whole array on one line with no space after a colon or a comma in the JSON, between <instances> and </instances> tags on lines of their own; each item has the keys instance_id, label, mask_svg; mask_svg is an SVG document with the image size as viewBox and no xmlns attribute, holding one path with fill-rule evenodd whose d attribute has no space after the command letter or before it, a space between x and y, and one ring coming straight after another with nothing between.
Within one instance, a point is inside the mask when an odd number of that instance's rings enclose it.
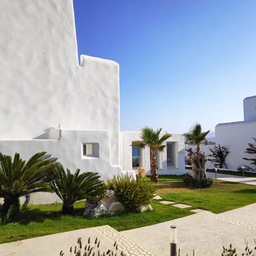
<instances>
[{"instance_id":1,"label":"pale paved path left of and including the foreground cobbled strip","mask_svg":"<svg viewBox=\"0 0 256 256\"><path fill-rule=\"evenodd\" d=\"M77 239L81 237L83 248L87 244L88 237L91 237L91 244L94 246L96 237L100 241L100 251L113 249L115 241L118 244L118 253L121 251L127 256L155 256L148 250L138 245L135 241L125 237L111 226L92 227L88 229L74 230L70 232L51 234L49 236L35 237L12 243L0 244L1 256L58 256L63 250L64 255L70 255L70 246L77 246ZM74 255L74 254L72 254Z\"/></svg>"}]
</instances>

